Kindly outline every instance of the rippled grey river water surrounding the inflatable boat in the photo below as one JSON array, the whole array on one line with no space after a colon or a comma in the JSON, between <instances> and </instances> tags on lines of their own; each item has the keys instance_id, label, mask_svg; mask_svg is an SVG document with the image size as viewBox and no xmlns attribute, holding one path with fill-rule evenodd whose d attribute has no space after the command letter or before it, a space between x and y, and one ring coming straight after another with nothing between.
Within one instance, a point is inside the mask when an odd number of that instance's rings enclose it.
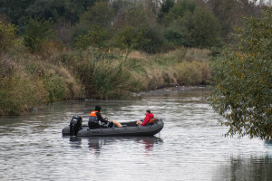
<instances>
[{"instance_id":1,"label":"rippled grey river water surrounding the inflatable boat","mask_svg":"<svg viewBox=\"0 0 272 181\"><path fill-rule=\"evenodd\" d=\"M141 100L58 102L20 117L0 117L0 180L272 180L272 145L225 138L207 89L158 90ZM94 105L120 122L150 109L165 126L151 138L63 137L74 114Z\"/></svg>"}]
</instances>

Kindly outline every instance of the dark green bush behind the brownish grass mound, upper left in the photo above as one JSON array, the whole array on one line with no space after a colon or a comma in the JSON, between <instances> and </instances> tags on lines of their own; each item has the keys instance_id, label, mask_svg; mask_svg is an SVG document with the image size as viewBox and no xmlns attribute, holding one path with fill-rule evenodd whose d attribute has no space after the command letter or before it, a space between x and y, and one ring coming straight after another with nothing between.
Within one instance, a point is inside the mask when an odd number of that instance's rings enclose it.
<instances>
[{"instance_id":1,"label":"dark green bush behind the brownish grass mound, upper left","mask_svg":"<svg viewBox=\"0 0 272 181\"><path fill-rule=\"evenodd\" d=\"M43 43L53 37L53 22L51 20L30 19L26 24L24 45L31 52L38 52Z\"/></svg>"}]
</instances>

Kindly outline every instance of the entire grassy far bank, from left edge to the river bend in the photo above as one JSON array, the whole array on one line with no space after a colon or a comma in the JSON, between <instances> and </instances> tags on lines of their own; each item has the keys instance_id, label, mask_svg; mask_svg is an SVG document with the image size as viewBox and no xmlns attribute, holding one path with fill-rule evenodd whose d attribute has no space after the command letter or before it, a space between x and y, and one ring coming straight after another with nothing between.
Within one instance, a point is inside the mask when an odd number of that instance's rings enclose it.
<instances>
[{"instance_id":1,"label":"entire grassy far bank, from left edge to the river bend","mask_svg":"<svg viewBox=\"0 0 272 181\"><path fill-rule=\"evenodd\" d=\"M20 46L18 46L20 47ZM22 48L0 53L0 115L60 100L124 99L131 91L209 81L208 50L180 48L158 54Z\"/></svg>"}]
</instances>

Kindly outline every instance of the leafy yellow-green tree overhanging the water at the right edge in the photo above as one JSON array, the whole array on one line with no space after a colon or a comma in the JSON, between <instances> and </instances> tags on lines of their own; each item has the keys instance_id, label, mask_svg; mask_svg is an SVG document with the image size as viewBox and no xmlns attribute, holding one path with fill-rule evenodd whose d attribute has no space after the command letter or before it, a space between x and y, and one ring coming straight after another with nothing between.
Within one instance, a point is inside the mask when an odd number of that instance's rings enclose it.
<instances>
[{"instance_id":1,"label":"leafy yellow-green tree overhanging the water at the right edge","mask_svg":"<svg viewBox=\"0 0 272 181\"><path fill-rule=\"evenodd\" d=\"M229 127L227 136L272 138L272 8L247 17L213 68L210 103Z\"/></svg>"}]
</instances>

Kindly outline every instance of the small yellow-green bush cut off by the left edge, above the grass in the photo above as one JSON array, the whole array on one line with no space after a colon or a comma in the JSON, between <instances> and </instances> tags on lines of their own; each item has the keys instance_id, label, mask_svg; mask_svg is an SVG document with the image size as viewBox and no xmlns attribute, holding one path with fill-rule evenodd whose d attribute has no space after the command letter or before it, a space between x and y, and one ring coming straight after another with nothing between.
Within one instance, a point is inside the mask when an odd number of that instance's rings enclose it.
<instances>
[{"instance_id":1,"label":"small yellow-green bush cut off by the left edge, above the grass","mask_svg":"<svg viewBox=\"0 0 272 181\"><path fill-rule=\"evenodd\" d=\"M16 31L14 24L4 24L0 21L0 52L15 43Z\"/></svg>"}]
</instances>

